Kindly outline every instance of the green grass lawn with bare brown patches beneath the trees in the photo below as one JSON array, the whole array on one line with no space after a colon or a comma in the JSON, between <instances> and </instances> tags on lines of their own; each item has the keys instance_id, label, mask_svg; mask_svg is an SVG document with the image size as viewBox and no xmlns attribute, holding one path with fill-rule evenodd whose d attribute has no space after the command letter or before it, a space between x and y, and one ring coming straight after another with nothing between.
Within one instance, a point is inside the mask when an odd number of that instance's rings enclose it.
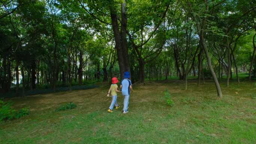
<instances>
[{"instance_id":1,"label":"green grass lawn with bare brown patches beneath the trees","mask_svg":"<svg viewBox=\"0 0 256 144\"><path fill-rule=\"evenodd\" d=\"M13 98L15 108L29 106L31 114L0 123L0 144L256 144L255 82L221 86L222 99L213 80L200 86L189 80L188 90L180 80L134 85L127 114L121 113L122 96L121 108L107 113L107 84ZM165 89L173 107L165 103ZM55 111L65 102L77 107Z\"/></svg>"}]
</instances>

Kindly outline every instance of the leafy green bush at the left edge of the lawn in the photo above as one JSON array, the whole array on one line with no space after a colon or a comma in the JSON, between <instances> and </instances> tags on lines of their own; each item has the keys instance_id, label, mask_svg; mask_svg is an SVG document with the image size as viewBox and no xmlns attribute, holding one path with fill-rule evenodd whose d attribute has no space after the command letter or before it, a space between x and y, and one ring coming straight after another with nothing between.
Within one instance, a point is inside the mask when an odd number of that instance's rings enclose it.
<instances>
[{"instance_id":1,"label":"leafy green bush at the left edge of the lawn","mask_svg":"<svg viewBox=\"0 0 256 144\"><path fill-rule=\"evenodd\" d=\"M29 108L22 108L16 111L12 108L12 102L4 102L0 99L0 122L4 120L18 119L30 114Z\"/></svg>"}]
</instances>

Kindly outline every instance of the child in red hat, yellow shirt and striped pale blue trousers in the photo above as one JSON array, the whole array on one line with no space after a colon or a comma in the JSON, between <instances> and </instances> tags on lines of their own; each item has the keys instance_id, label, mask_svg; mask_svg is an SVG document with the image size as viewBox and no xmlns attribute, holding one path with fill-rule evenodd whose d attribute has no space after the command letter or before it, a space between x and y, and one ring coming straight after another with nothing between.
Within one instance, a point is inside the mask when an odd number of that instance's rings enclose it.
<instances>
[{"instance_id":1,"label":"child in red hat, yellow shirt and striped pale blue trousers","mask_svg":"<svg viewBox=\"0 0 256 144\"><path fill-rule=\"evenodd\" d=\"M107 110L109 113L113 112L114 105L116 106L116 109L119 108L119 105L116 102L116 100L117 100L117 92L121 92L121 91L118 91L118 89L117 89L118 85L116 85L116 83L118 83L118 79L116 77L113 77L112 78L112 85L110 86L109 92L107 93L107 96L109 96L110 91L111 91L111 95L112 95L112 102L109 106L109 110Z\"/></svg>"}]
</instances>

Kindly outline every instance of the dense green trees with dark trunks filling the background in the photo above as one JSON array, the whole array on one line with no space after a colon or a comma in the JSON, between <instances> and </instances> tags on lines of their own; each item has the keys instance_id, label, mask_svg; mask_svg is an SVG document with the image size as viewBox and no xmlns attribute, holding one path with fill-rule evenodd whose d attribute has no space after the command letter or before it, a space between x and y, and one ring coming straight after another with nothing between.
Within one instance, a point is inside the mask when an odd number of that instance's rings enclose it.
<instances>
[{"instance_id":1,"label":"dense green trees with dark trunks filling the background","mask_svg":"<svg viewBox=\"0 0 256 144\"><path fill-rule=\"evenodd\" d=\"M1 0L0 89L256 77L255 0ZM209 74L209 76L207 76Z\"/></svg>"}]
</instances>

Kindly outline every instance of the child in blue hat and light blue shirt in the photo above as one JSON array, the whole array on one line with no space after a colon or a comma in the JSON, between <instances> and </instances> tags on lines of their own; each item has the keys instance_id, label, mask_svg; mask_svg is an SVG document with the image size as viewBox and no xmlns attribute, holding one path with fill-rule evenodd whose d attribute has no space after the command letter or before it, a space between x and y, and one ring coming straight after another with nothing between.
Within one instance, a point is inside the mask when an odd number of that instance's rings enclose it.
<instances>
[{"instance_id":1,"label":"child in blue hat and light blue shirt","mask_svg":"<svg viewBox=\"0 0 256 144\"><path fill-rule=\"evenodd\" d=\"M130 77L131 76L129 71L126 71L124 73L124 79L121 81L121 85L120 85L122 95L124 95L124 108L122 111L123 113L128 113L129 96L132 89L131 80L129 80Z\"/></svg>"}]
</instances>

